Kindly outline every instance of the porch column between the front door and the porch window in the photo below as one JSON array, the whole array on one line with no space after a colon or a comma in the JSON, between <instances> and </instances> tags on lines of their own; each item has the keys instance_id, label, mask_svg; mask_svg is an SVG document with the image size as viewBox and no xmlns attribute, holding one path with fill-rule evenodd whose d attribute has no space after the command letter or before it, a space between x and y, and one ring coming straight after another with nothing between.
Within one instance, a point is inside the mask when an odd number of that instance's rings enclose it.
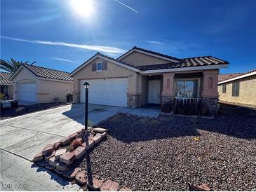
<instances>
[{"instance_id":1,"label":"porch column between the front door and the porch window","mask_svg":"<svg viewBox=\"0 0 256 192\"><path fill-rule=\"evenodd\" d=\"M169 102L174 97L174 73L163 74L162 104Z\"/></svg>"}]
</instances>

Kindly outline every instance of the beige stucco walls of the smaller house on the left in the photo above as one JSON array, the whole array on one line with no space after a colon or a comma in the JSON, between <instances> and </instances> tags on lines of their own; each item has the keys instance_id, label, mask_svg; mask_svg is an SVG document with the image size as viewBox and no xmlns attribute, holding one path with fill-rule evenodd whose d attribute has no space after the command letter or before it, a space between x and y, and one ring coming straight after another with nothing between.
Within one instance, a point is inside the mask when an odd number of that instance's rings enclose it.
<instances>
[{"instance_id":1,"label":"beige stucco walls of the smaller house on the left","mask_svg":"<svg viewBox=\"0 0 256 192\"><path fill-rule=\"evenodd\" d=\"M31 74L27 69L21 69L13 79L14 100L19 100L19 87L21 83L36 83L36 102L54 102L55 97L60 97L60 102L66 102L66 95L72 94L73 82L41 80Z\"/></svg>"}]
</instances>

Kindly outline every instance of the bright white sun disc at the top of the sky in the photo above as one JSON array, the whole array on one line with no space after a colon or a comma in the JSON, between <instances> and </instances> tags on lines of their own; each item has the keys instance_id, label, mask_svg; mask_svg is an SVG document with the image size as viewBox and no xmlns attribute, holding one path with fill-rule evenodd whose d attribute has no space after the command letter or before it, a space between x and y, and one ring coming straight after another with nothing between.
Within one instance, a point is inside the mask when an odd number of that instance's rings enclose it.
<instances>
[{"instance_id":1,"label":"bright white sun disc at the top of the sky","mask_svg":"<svg viewBox=\"0 0 256 192\"><path fill-rule=\"evenodd\" d=\"M89 18L93 14L92 0L72 0L72 7L82 17Z\"/></svg>"}]
</instances>

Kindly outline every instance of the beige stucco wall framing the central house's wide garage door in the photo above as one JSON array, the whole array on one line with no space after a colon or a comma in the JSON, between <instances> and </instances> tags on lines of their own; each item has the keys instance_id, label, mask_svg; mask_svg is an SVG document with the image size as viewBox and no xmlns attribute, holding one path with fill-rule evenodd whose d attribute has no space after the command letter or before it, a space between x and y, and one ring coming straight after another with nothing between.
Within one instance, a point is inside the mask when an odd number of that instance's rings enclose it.
<instances>
[{"instance_id":1,"label":"beige stucco wall framing the central house's wide garage door","mask_svg":"<svg viewBox=\"0 0 256 192\"><path fill-rule=\"evenodd\" d=\"M107 61L107 70L92 71L92 64L103 61L101 58L96 58L92 62L80 69L74 74L73 94L74 102L80 102L80 82L85 79L95 78L128 78L128 94L141 94L141 76L135 71L126 69L117 64Z\"/></svg>"}]
</instances>

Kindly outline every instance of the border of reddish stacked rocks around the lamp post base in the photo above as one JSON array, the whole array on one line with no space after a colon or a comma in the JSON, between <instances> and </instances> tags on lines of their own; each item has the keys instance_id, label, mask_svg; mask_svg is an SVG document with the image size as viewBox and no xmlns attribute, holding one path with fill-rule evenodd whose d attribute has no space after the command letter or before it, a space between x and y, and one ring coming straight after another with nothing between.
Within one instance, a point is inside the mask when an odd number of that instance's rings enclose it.
<instances>
[{"instance_id":1,"label":"border of reddish stacked rocks around the lamp post base","mask_svg":"<svg viewBox=\"0 0 256 192\"><path fill-rule=\"evenodd\" d=\"M58 142L43 147L42 151L34 156L34 163L54 171L61 177L76 181L76 184L79 184L79 186L87 186L92 191L132 191L126 186L119 186L119 183L109 179L102 179L97 176L93 176L89 182L86 170L80 170L79 167L72 167L75 160L83 158L86 155L86 151L93 149L93 146L102 142L102 139L107 137L108 131L104 128L88 128L88 131L90 132L88 143L83 142L81 146L78 146L71 152L67 151L67 149L60 149L60 147L70 145L74 139L82 141L83 130L84 128Z\"/></svg>"}]
</instances>

